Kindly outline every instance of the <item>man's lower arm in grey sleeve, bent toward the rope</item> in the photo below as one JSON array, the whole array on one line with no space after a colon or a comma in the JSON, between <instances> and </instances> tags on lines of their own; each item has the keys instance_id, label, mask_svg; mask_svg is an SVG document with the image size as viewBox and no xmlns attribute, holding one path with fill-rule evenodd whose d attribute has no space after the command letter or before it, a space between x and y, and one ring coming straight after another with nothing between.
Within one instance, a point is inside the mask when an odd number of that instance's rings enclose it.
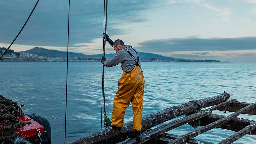
<instances>
[{"instance_id":1,"label":"man's lower arm in grey sleeve, bent toward the rope","mask_svg":"<svg viewBox=\"0 0 256 144\"><path fill-rule=\"evenodd\" d=\"M127 53L126 51L120 50L115 54L113 58L111 58L110 60L104 61L103 65L106 67L114 67L118 65L120 62L124 60L126 53Z\"/></svg>"}]
</instances>

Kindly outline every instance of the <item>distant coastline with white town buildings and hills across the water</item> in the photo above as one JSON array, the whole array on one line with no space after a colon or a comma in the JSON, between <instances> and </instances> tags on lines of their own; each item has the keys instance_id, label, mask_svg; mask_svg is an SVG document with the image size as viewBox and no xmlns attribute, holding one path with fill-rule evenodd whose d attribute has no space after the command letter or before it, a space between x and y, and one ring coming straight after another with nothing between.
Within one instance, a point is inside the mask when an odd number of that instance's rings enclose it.
<instances>
[{"instance_id":1,"label":"distant coastline with white town buildings and hills across the water","mask_svg":"<svg viewBox=\"0 0 256 144\"><path fill-rule=\"evenodd\" d=\"M0 47L0 54L4 53L6 48ZM159 54L138 52L141 62L220 62L219 60L192 60L182 58L165 57ZM82 53L68 52L68 61L70 62L99 62L101 54L85 55ZM115 53L106 54L107 60L113 57ZM57 50L48 50L35 47L25 52L14 52L8 50L0 61L45 61L45 62L65 62L67 61L67 52Z\"/></svg>"}]
</instances>

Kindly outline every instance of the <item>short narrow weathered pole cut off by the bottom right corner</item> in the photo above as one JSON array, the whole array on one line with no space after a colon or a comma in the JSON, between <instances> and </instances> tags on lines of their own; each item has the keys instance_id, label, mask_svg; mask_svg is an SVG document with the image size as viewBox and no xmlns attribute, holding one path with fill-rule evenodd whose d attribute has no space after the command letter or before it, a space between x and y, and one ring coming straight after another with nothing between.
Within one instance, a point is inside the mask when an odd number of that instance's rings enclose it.
<instances>
[{"instance_id":1,"label":"short narrow weathered pole cut off by the bottom right corner","mask_svg":"<svg viewBox=\"0 0 256 144\"><path fill-rule=\"evenodd\" d=\"M222 140L221 142L219 142L218 144L230 144L238 139L240 139L241 137L243 137L244 135L246 135L247 133L251 132L252 130L254 130L256 128L256 122L253 122L252 124L246 126L245 128L243 128L242 130L240 130L239 132L236 132L235 134L231 135L230 137L228 137L225 140Z\"/></svg>"}]
</instances>

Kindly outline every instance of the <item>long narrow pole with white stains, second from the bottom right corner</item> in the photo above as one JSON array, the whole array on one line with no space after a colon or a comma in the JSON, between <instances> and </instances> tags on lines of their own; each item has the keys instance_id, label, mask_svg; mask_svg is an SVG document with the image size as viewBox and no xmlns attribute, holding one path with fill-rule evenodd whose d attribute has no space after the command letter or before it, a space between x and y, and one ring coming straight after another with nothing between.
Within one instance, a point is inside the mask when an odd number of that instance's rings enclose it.
<instances>
[{"instance_id":1,"label":"long narrow pole with white stains, second from the bottom right corner","mask_svg":"<svg viewBox=\"0 0 256 144\"><path fill-rule=\"evenodd\" d=\"M246 111L248 111L248 110L250 110L252 108L255 108L255 107L256 107L256 103L253 103L253 104L251 104L249 106L246 106L246 107L244 107L244 108L242 108L242 109L240 109L240 110L238 110L238 111L236 111L236 112L234 112L234 113L232 113L232 114L230 114L228 116L225 116L222 119L219 119L219 120L217 120L217 121L215 121L215 122L213 122L211 124L208 124L208 125L206 125L204 127L201 127L201 128L199 128L199 129L197 129L195 131L189 132L189 133L181 136L180 138L173 140L172 142L170 142L170 144L180 144L180 143L182 143L182 142L184 142L186 140L192 139L192 138L198 136L201 133L207 132L207 131L209 131L209 130L211 130L213 128L216 128L216 127L218 127L218 126L220 126L222 124L225 124L226 122L230 121L231 119L235 118L236 116L239 116L242 113L244 113L244 112L246 112Z\"/></svg>"}]
</instances>

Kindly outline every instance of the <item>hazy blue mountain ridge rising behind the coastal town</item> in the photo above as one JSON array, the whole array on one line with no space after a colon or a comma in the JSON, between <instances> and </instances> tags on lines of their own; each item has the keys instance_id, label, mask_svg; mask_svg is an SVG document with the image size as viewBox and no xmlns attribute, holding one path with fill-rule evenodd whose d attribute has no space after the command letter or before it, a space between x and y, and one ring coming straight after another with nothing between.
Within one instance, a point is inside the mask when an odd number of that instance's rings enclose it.
<instances>
[{"instance_id":1,"label":"hazy blue mountain ridge rising behind the coastal town","mask_svg":"<svg viewBox=\"0 0 256 144\"><path fill-rule=\"evenodd\" d=\"M27 53L48 56L48 57L67 57L67 52L57 51L57 50L48 50L42 47L34 47L31 50L25 51ZM154 53L147 53L147 52L138 52L140 59L171 59L174 60L175 58L172 57L165 57L159 54ZM105 54L105 57L113 57L115 53ZM102 54L92 54L87 55L83 53L76 53L76 52L68 52L69 57L102 57Z\"/></svg>"}]
</instances>

